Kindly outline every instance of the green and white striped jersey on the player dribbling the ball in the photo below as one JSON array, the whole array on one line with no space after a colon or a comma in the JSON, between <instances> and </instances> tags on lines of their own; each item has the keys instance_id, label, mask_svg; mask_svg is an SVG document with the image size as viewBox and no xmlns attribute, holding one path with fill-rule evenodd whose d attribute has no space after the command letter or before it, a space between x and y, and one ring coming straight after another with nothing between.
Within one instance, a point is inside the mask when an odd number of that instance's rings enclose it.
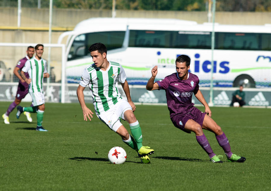
<instances>
[{"instance_id":1,"label":"green and white striped jersey on the player dribbling the ball","mask_svg":"<svg viewBox=\"0 0 271 191\"><path fill-rule=\"evenodd\" d=\"M122 99L118 90L118 81L124 83L125 80L126 74L123 67L119 63L109 61L106 71L96 67L94 63L87 66L81 76L80 85L89 86L95 112L99 115Z\"/></svg>"}]
</instances>

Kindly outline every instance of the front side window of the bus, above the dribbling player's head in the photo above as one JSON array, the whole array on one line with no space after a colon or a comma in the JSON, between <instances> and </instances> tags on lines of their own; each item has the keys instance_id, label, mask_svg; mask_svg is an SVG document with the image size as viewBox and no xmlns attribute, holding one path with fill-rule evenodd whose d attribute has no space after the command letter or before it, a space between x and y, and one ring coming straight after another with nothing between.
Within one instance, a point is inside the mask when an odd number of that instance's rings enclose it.
<instances>
[{"instance_id":1,"label":"front side window of the bus, above the dribbling player's head","mask_svg":"<svg viewBox=\"0 0 271 191\"><path fill-rule=\"evenodd\" d=\"M125 31L92 32L78 35L70 48L68 60L90 56L89 47L97 42L103 43L107 51L121 48Z\"/></svg>"}]
</instances>

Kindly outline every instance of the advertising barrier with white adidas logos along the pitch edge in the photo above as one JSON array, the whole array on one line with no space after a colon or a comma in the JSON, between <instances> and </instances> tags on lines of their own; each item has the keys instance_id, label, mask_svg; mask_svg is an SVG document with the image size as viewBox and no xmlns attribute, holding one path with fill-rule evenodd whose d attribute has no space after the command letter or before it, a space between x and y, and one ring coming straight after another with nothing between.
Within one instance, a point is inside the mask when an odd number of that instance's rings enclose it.
<instances>
[{"instance_id":1,"label":"advertising barrier with white adidas logos along the pitch edge","mask_svg":"<svg viewBox=\"0 0 271 191\"><path fill-rule=\"evenodd\" d=\"M0 101L13 101L17 92L18 83L1 82L0 83ZM68 99L67 102L79 103L77 99L76 89L78 84L68 85ZM144 85L130 85L130 94L134 103L142 104L166 104L166 94L164 90L146 90ZM47 94L46 83L44 84L44 93L46 102L61 102L61 84L51 83ZM213 104L215 106L229 106L232 100L232 93L238 88L213 88ZM209 102L210 88L200 87L200 90L207 101ZM123 97L126 97L122 87L119 86L119 91ZM245 92L245 106L264 106L271 107L271 88L244 88ZM84 90L85 102L92 103L91 93L89 88ZM31 102L29 94L22 100ZM192 96L192 102L196 105L201 105L195 95Z\"/></svg>"}]
</instances>

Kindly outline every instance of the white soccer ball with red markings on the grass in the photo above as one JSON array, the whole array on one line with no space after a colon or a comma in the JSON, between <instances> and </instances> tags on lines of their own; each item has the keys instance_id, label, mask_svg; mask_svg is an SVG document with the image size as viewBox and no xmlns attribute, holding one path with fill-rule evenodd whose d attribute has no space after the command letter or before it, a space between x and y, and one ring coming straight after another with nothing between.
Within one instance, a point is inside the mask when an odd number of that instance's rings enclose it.
<instances>
[{"instance_id":1,"label":"white soccer ball with red markings on the grass","mask_svg":"<svg viewBox=\"0 0 271 191\"><path fill-rule=\"evenodd\" d=\"M126 152L119 146L114 146L108 152L108 160L112 164L123 164L126 161Z\"/></svg>"}]
</instances>

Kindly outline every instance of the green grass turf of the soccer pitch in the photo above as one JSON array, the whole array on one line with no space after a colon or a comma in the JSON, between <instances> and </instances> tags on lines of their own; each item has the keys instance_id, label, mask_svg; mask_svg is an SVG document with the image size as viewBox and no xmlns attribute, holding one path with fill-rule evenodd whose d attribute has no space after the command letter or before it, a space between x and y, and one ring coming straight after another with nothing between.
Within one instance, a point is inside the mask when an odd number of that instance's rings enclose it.
<instances>
[{"instance_id":1,"label":"green grass turf of the soccer pitch","mask_svg":"<svg viewBox=\"0 0 271 191\"><path fill-rule=\"evenodd\" d=\"M0 102L1 116L8 102ZM29 103L22 103L28 106ZM10 125L0 122L0 190L270 190L270 109L214 107L212 118L229 139L232 152L245 163L226 162L213 133L204 131L223 164L209 161L195 134L175 128L167 106L136 107L143 145L155 153L142 164L134 150L97 116L83 121L77 104L46 103L43 126L14 110ZM94 111L92 104L89 108ZM204 111L203 107L199 107ZM123 124L129 128L126 122ZM123 165L113 165L113 146L127 152Z\"/></svg>"}]
</instances>

